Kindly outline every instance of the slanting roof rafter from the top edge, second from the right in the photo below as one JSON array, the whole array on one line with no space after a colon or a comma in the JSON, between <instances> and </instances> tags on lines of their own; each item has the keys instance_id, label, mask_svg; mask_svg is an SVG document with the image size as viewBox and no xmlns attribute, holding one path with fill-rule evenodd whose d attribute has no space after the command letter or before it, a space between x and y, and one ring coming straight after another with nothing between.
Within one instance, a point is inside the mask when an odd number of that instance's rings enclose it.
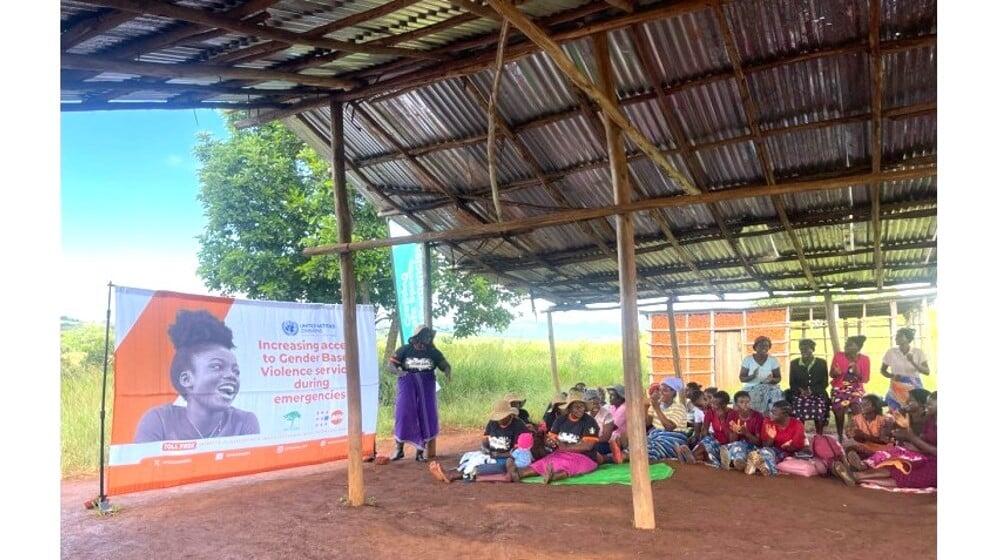
<instances>
[{"instance_id":1,"label":"slanting roof rafter from the top edge, second from the right","mask_svg":"<svg viewBox=\"0 0 1000 560\"><path fill-rule=\"evenodd\" d=\"M750 84L747 81L746 74L743 72L743 58L740 55L739 49L736 48L736 39L733 37L732 27L730 26L729 19L726 17L726 14L722 9L722 2L720 0L715 0L715 2L713 2L712 12L715 14L715 20L719 29L722 30L722 41L726 46L726 54L729 57L729 64L732 66L733 73L736 76L736 84L740 92L740 101L743 105L743 114L746 116L747 125L750 127L750 133L753 136L757 160L760 163L761 169L764 171L764 178L767 181L767 184L773 185L776 183L774 178L774 166L771 162L771 155L768 152L767 142L764 140L764 136L761 133L760 111L757 108L757 103L754 101L753 96L750 94ZM798 236L795 235L795 231L792 229L791 224L788 221L785 201L780 196L772 196L771 204L774 206L774 209L778 214L778 218L781 219L782 225L785 226L785 233L792 242L792 246L795 247L795 252L799 256L799 265L802 267L802 272L805 274L806 280L809 281L809 285L813 290L819 291L819 285L816 284L816 280L812 275L812 270L809 268L809 262L806 261L805 253L802 249L802 242L799 241Z\"/></svg>"}]
</instances>

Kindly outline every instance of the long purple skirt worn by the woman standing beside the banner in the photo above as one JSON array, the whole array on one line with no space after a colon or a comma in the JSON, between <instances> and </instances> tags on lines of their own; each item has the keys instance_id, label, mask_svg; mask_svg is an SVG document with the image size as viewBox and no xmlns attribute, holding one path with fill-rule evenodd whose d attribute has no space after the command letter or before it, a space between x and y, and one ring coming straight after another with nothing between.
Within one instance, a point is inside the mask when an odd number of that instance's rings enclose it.
<instances>
[{"instance_id":1,"label":"long purple skirt worn by the woman standing beside the banner","mask_svg":"<svg viewBox=\"0 0 1000 560\"><path fill-rule=\"evenodd\" d=\"M396 380L396 441L424 449L437 437L437 392L433 372L408 373Z\"/></svg>"}]
</instances>

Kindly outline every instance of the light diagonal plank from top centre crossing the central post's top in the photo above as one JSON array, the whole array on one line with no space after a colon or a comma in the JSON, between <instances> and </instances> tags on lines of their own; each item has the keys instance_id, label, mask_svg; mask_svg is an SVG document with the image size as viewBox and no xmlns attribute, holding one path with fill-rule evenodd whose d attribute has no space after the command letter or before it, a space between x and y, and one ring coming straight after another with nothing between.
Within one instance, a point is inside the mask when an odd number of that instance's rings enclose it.
<instances>
[{"instance_id":1,"label":"light diagonal plank from top centre crossing the central post's top","mask_svg":"<svg viewBox=\"0 0 1000 560\"><path fill-rule=\"evenodd\" d=\"M617 94L609 95L602 92L581 72L576 64L570 60L559 47L559 45L545 33L537 24L524 16L520 10L515 8L509 0L488 0L490 6L500 15L510 20L511 24L521 30L532 42L537 44L549 57L552 62L566 75L576 87L583 90L588 97L593 99L604 111L607 118L611 119L615 125L621 128L622 132L635 143L668 177L674 180L678 186L689 194L697 194L696 189L687 177L667 160L649 138L629 121L628 117L618 108ZM624 157L624 156L623 156Z\"/></svg>"}]
</instances>

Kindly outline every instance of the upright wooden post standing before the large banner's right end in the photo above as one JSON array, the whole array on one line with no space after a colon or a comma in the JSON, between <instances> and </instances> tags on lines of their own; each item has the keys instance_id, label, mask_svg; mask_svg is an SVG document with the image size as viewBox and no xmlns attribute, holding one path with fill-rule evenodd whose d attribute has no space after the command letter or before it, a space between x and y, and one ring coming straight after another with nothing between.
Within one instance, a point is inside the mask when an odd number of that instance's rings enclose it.
<instances>
[{"instance_id":1,"label":"upright wooden post standing before the large banner's right end","mask_svg":"<svg viewBox=\"0 0 1000 560\"><path fill-rule=\"evenodd\" d=\"M330 101L330 143L333 151L333 192L337 213L337 240L351 241L351 206L347 198L344 158L344 105ZM347 369L347 502L365 504L365 481L361 471L361 373L358 359L358 317L355 294L354 254L340 254L340 294L344 318L344 365Z\"/></svg>"}]
</instances>

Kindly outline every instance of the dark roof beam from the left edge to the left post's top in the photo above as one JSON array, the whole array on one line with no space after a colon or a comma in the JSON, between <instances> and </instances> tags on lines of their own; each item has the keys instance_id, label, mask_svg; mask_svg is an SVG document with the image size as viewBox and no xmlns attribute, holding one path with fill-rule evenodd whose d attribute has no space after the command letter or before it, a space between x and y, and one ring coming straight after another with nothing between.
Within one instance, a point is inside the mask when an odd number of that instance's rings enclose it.
<instances>
[{"instance_id":1,"label":"dark roof beam from the left edge to the left post's top","mask_svg":"<svg viewBox=\"0 0 1000 560\"><path fill-rule=\"evenodd\" d=\"M228 78L237 80L283 80L293 84L325 87L331 89L349 88L354 82L334 76L310 76L275 70L256 70L211 64L157 64L152 62L131 62L99 56L63 54L61 67L66 70L90 70L94 72L117 72L138 76L159 78Z\"/></svg>"}]
</instances>

